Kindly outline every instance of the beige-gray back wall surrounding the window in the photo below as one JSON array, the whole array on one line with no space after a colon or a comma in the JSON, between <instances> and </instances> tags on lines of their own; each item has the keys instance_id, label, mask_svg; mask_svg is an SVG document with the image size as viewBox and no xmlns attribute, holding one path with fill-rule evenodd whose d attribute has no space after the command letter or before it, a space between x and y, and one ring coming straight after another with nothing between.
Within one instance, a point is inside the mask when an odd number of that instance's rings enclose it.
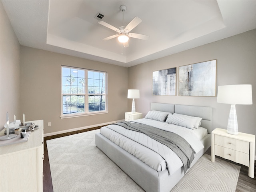
<instances>
[{"instance_id":1,"label":"beige-gray back wall surrounding the window","mask_svg":"<svg viewBox=\"0 0 256 192\"><path fill-rule=\"evenodd\" d=\"M108 72L107 114L60 119L61 65ZM127 112L127 71L125 67L21 46L21 112L26 120L43 119L45 134L122 120Z\"/></svg>"}]
</instances>

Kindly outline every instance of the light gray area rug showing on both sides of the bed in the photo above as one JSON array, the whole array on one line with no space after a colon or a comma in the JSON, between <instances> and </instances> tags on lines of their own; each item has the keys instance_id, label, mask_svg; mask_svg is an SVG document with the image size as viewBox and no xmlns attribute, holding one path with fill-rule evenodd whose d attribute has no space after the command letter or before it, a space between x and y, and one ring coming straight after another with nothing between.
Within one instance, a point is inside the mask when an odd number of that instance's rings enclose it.
<instances>
[{"instance_id":1,"label":"light gray area rug showing on both sides of the bed","mask_svg":"<svg viewBox=\"0 0 256 192\"><path fill-rule=\"evenodd\" d=\"M54 192L144 192L95 146L93 130L47 140ZM235 192L240 167L204 154L172 192Z\"/></svg>"}]
</instances>

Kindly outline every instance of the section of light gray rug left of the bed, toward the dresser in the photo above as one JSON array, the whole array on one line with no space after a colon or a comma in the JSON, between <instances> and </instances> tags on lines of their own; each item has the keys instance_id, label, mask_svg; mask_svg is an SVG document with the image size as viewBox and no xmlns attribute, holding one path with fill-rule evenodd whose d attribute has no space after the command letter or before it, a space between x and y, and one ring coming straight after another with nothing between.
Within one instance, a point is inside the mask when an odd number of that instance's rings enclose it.
<instances>
[{"instance_id":1,"label":"section of light gray rug left of the bed, toward the dresser","mask_svg":"<svg viewBox=\"0 0 256 192\"><path fill-rule=\"evenodd\" d=\"M144 192L95 146L97 132L46 141L54 192Z\"/></svg>"}]
</instances>

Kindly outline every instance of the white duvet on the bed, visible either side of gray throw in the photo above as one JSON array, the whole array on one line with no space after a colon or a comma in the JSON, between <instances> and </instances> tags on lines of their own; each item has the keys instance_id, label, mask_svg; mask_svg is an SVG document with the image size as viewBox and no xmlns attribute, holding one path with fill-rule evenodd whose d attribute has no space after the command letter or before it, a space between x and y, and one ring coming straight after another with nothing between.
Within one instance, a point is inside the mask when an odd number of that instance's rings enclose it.
<instances>
[{"instance_id":1,"label":"white duvet on the bed, visible either side of gray throw","mask_svg":"<svg viewBox=\"0 0 256 192\"><path fill-rule=\"evenodd\" d=\"M200 142L200 139L207 135L207 130L204 128L192 130L145 118L134 120L133 122L174 132L187 140L196 153L204 148L202 142ZM127 130L114 124L102 127L100 133L154 170L165 170L167 163L168 171L171 175L183 166L180 158L170 148L143 133Z\"/></svg>"}]
</instances>

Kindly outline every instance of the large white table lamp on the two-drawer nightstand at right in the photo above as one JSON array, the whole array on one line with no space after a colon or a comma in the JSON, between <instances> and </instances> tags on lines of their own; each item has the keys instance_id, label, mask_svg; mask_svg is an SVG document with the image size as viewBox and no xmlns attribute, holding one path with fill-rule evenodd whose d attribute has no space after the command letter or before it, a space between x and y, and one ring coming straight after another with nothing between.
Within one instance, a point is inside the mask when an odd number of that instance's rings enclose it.
<instances>
[{"instance_id":1,"label":"large white table lamp on the two-drawer nightstand at right","mask_svg":"<svg viewBox=\"0 0 256 192\"><path fill-rule=\"evenodd\" d=\"M217 103L231 104L227 133L238 135L236 104L252 105L252 85L218 86Z\"/></svg>"}]
</instances>

